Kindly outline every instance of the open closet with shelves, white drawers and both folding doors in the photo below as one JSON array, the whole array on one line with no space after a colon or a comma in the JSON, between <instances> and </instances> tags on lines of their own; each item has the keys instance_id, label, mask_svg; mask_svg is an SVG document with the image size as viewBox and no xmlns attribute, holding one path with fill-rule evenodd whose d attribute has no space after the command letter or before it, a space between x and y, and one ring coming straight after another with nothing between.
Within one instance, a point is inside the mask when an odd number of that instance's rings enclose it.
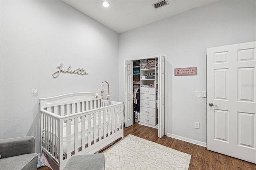
<instances>
[{"instance_id":1,"label":"open closet with shelves, white drawers and both folding doors","mask_svg":"<svg viewBox=\"0 0 256 170\"><path fill-rule=\"evenodd\" d=\"M166 55L125 60L125 127L135 122L164 136Z\"/></svg>"}]
</instances>

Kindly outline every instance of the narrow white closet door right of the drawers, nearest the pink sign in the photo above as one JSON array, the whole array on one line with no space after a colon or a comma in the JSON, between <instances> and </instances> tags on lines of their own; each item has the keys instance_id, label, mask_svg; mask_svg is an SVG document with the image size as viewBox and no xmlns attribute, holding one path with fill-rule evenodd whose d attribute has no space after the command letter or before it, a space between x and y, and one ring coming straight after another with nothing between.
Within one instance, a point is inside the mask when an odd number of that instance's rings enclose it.
<instances>
[{"instance_id":1,"label":"narrow white closet door right of the drawers, nearest the pink sign","mask_svg":"<svg viewBox=\"0 0 256 170\"><path fill-rule=\"evenodd\" d=\"M164 136L164 56L158 56L158 138Z\"/></svg>"}]
</instances>

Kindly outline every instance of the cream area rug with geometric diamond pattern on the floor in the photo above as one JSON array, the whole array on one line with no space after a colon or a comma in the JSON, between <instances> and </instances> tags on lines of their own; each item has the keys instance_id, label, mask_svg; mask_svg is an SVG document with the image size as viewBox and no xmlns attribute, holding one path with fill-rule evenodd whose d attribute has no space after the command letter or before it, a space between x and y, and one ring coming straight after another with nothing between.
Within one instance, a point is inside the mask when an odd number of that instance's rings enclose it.
<instances>
[{"instance_id":1,"label":"cream area rug with geometric diamond pattern on the floor","mask_svg":"<svg viewBox=\"0 0 256 170\"><path fill-rule=\"evenodd\" d=\"M104 152L105 170L188 170L191 156L129 134Z\"/></svg>"}]
</instances>

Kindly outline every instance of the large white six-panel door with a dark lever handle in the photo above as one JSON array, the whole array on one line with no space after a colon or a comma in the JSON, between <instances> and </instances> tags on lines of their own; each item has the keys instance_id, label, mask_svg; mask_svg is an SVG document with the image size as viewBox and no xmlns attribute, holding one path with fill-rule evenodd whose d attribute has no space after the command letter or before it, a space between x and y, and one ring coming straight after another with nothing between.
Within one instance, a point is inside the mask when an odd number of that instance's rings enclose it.
<instances>
[{"instance_id":1,"label":"large white six-panel door with a dark lever handle","mask_svg":"<svg viewBox=\"0 0 256 170\"><path fill-rule=\"evenodd\" d=\"M252 163L256 163L255 47L256 42L248 42L207 49L207 149Z\"/></svg>"}]
</instances>

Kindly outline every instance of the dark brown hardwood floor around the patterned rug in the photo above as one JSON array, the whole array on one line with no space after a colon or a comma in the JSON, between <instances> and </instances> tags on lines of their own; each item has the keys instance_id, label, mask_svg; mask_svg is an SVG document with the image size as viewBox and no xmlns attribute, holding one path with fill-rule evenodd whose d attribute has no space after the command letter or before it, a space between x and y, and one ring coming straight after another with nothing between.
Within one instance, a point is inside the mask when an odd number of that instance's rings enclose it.
<instances>
[{"instance_id":1,"label":"dark brown hardwood floor around the patterned rug","mask_svg":"<svg viewBox=\"0 0 256 170\"><path fill-rule=\"evenodd\" d=\"M209 151L203 146L167 136L158 138L157 129L139 125L138 123L124 128L124 137L128 134L133 134L134 136L190 154L189 170L256 170L256 164ZM38 168L38 170L50 170L50 168L43 166Z\"/></svg>"}]
</instances>

